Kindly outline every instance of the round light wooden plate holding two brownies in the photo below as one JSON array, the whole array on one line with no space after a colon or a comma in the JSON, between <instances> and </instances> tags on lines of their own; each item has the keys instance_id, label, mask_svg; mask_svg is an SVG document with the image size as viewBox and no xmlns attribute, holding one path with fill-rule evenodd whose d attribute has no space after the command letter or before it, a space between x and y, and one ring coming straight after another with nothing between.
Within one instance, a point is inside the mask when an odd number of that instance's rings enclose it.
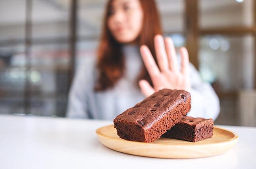
<instances>
[{"instance_id":1,"label":"round light wooden plate holding two brownies","mask_svg":"<svg viewBox=\"0 0 256 169\"><path fill-rule=\"evenodd\" d=\"M117 135L114 125L101 127L96 134L98 140L112 150L156 158L198 158L223 154L235 146L239 137L232 131L216 126L212 138L199 142L162 137L152 143L123 140Z\"/></svg>"}]
</instances>

